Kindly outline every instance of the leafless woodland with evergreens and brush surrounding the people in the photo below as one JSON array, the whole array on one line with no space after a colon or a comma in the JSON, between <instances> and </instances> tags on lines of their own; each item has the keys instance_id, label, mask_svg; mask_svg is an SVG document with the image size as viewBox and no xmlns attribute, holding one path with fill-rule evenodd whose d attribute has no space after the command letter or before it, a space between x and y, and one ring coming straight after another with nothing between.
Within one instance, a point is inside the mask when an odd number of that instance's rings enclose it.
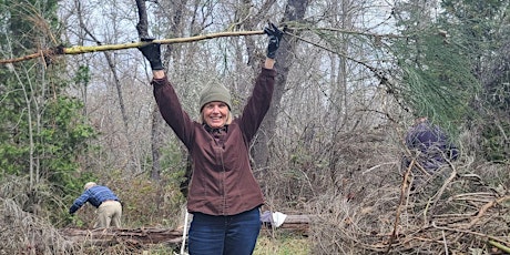
<instances>
[{"instance_id":1,"label":"leafless woodland with evergreens and brush surrounding the people","mask_svg":"<svg viewBox=\"0 0 510 255\"><path fill-rule=\"evenodd\" d=\"M500 253L510 245L509 2L0 0L0 59L285 26L252 157L265 210L316 215L303 254ZM191 115L214 80L237 114L266 45L263 34L165 44L163 62ZM150 79L137 49L0 65L2 254L89 253L59 234L91 227L92 206L68 214L88 181L123 200L125 227L182 224L190 163ZM461 156L410 194L402 137L420 115Z\"/></svg>"}]
</instances>

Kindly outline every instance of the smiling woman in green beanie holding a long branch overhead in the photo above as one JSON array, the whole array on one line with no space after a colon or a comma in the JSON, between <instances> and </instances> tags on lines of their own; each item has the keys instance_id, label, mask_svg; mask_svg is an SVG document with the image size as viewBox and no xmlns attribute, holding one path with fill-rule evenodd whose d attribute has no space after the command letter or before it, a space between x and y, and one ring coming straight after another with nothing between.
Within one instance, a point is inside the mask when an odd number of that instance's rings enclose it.
<instances>
[{"instance_id":1,"label":"smiling woman in green beanie holding a long branch overhead","mask_svg":"<svg viewBox=\"0 0 510 255\"><path fill-rule=\"evenodd\" d=\"M153 71L151 83L160 112L193 160L187 195L187 211L193 214L188 233L192 255L247 255L255 248L264 197L252 173L248 150L271 105L274 59L283 37L273 23L264 32L269 38L267 58L238 118L232 116L228 90L212 84L200 96L201 120L193 121L165 75L161 45L139 48Z\"/></svg>"}]
</instances>

